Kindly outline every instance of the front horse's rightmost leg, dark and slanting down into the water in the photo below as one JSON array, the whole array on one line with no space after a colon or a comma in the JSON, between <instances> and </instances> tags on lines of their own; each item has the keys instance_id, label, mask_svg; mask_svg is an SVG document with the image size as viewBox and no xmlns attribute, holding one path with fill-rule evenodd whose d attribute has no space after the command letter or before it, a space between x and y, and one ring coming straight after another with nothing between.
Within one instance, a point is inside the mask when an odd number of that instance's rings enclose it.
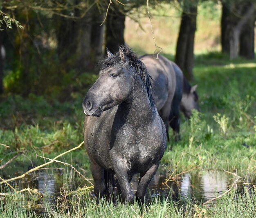
<instances>
[{"instance_id":1,"label":"front horse's rightmost leg, dark and slanting down into the water","mask_svg":"<svg viewBox=\"0 0 256 218\"><path fill-rule=\"evenodd\" d=\"M154 164L145 174L141 174L139 178L139 185L136 192L136 198L141 202L144 203L146 191L148 188L149 182L152 180L153 176L155 175L158 169L158 164Z\"/></svg>"}]
</instances>

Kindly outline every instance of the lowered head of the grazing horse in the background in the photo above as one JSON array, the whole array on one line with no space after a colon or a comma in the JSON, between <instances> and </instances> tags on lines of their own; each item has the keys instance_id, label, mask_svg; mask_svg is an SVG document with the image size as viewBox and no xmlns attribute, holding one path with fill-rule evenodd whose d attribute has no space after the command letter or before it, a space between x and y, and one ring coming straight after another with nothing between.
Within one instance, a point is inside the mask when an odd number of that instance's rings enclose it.
<instances>
[{"instance_id":1,"label":"lowered head of the grazing horse in the background","mask_svg":"<svg viewBox=\"0 0 256 218\"><path fill-rule=\"evenodd\" d=\"M180 102L180 109L186 116L186 118L190 118L192 114L192 109L196 109L199 111L198 107L198 94L196 93L196 88L198 85L194 85L191 87L188 93L182 94L182 99Z\"/></svg>"}]
</instances>

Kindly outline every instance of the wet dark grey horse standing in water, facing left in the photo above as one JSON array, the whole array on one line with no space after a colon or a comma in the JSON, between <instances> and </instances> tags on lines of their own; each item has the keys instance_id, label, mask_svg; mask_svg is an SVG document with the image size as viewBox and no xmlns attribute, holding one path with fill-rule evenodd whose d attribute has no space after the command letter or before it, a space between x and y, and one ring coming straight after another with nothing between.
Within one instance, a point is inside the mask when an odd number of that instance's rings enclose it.
<instances>
[{"instance_id":1,"label":"wet dark grey horse standing in water, facing left","mask_svg":"<svg viewBox=\"0 0 256 218\"><path fill-rule=\"evenodd\" d=\"M122 200L133 202L130 181L139 173L136 197L144 202L166 148L166 130L153 101L147 69L128 47L119 47L115 55L108 51L83 109L85 148L97 200L107 194L116 174Z\"/></svg>"}]
</instances>

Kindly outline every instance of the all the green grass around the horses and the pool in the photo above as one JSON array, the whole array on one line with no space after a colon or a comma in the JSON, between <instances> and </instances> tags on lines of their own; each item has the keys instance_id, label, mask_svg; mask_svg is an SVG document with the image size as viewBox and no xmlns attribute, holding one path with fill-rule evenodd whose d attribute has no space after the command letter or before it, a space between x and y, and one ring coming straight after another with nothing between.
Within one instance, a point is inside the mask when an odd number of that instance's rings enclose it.
<instances>
[{"instance_id":1,"label":"all the green grass around the horses and the pool","mask_svg":"<svg viewBox=\"0 0 256 218\"><path fill-rule=\"evenodd\" d=\"M191 120L182 116L181 140L175 143L171 137L173 150L164 153L161 162L171 173L180 173L197 167L199 170L238 171L238 175L255 176L256 167L256 65L243 59L230 62L219 53L196 57L194 69L198 84L201 112L193 111ZM79 91L81 93L79 93ZM58 154L79 145L83 141L83 111L81 102L83 91L72 94L65 102L31 95L2 96L0 102L0 165L17 153L23 152L10 165L1 170L2 178L11 178L27 171L29 167L45 162L36 155L54 158ZM13 107L14 106L14 107ZM172 132L170 131L172 136ZM249 147L245 147L244 145ZM170 146L170 145L169 145ZM60 161L72 164L85 176L91 177L90 161L81 148L61 157ZM84 181L69 166L60 163L49 167L62 167L63 182L83 187ZM26 180L34 179L26 177ZM2 187L0 192L8 192ZM73 190L69 187L67 190ZM13 194L1 197L0 217L36 217L36 202L42 196ZM246 191L245 191L246 193ZM233 198L231 193L216 204L194 205L195 202L153 202L141 207L137 203L104 203L97 205L88 194L75 194L68 201L60 200L54 210L48 207L51 217L250 217L255 211L256 197L245 194ZM181 207L181 205L183 205ZM239 205L239 207L238 207ZM201 215L200 215L201 214Z\"/></svg>"}]
</instances>

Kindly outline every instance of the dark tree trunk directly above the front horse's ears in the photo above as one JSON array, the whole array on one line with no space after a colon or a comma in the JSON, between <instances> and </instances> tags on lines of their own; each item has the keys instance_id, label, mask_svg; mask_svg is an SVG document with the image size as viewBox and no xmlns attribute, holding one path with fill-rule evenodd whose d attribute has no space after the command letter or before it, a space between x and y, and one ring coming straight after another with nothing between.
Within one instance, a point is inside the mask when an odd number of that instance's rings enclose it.
<instances>
[{"instance_id":1,"label":"dark tree trunk directly above the front horse's ears","mask_svg":"<svg viewBox=\"0 0 256 218\"><path fill-rule=\"evenodd\" d=\"M106 47L112 53L118 51L118 46L124 45L125 15L118 7L119 4L113 2L106 20Z\"/></svg>"}]
</instances>

